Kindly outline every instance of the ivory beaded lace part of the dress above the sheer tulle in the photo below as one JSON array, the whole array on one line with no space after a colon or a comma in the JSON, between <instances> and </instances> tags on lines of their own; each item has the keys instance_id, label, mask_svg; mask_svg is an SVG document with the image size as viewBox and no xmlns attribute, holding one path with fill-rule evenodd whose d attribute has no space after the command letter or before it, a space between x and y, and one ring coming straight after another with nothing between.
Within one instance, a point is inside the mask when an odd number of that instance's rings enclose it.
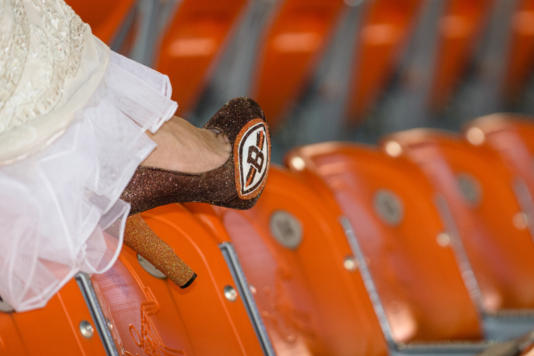
<instances>
[{"instance_id":1,"label":"ivory beaded lace part of the dress above the sheer tulle","mask_svg":"<svg viewBox=\"0 0 534 356\"><path fill-rule=\"evenodd\" d=\"M86 24L64 1L8 0L0 25L0 133L43 116L62 99L84 49ZM28 18L32 20L29 21Z\"/></svg>"}]
</instances>

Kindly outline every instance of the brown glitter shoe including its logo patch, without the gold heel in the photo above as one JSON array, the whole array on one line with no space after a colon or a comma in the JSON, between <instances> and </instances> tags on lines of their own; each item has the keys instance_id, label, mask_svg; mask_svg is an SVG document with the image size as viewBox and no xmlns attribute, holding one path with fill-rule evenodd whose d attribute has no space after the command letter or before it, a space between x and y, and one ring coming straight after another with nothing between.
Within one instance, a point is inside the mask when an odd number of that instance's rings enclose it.
<instances>
[{"instance_id":1,"label":"brown glitter shoe including its logo patch, without the gold heel","mask_svg":"<svg viewBox=\"0 0 534 356\"><path fill-rule=\"evenodd\" d=\"M270 131L261 107L232 99L204 125L228 137L233 150L223 166L204 173L139 166L120 199L131 214L170 203L209 203L250 209L264 189L270 166Z\"/></svg>"}]
</instances>

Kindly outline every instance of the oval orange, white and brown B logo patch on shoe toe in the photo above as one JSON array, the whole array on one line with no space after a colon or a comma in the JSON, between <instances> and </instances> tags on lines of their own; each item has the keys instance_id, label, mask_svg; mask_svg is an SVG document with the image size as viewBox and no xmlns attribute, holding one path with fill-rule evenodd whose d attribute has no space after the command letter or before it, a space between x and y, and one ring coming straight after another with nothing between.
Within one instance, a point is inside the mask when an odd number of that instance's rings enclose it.
<instances>
[{"instance_id":1,"label":"oval orange, white and brown B logo patch on shoe toe","mask_svg":"<svg viewBox=\"0 0 534 356\"><path fill-rule=\"evenodd\" d=\"M270 138L261 118L249 121L239 132L233 147L236 189L241 199L255 198L265 186L270 165Z\"/></svg>"}]
</instances>

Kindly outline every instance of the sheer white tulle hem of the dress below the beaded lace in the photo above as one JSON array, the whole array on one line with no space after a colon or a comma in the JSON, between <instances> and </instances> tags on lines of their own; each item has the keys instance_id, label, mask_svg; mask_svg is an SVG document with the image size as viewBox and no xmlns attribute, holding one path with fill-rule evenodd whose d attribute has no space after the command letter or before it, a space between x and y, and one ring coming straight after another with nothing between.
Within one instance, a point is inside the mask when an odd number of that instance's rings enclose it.
<instances>
[{"instance_id":1,"label":"sheer white tulle hem of the dress below the beaded lace","mask_svg":"<svg viewBox=\"0 0 534 356\"><path fill-rule=\"evenodd\" d=\"M44 306L79 270L112 266L129 212L120 193L155 147L144 131L177 109L170 94L168 77L109 52L62 136L0 166L0 296L14 309Z\"/></svg>"}]
</instances>

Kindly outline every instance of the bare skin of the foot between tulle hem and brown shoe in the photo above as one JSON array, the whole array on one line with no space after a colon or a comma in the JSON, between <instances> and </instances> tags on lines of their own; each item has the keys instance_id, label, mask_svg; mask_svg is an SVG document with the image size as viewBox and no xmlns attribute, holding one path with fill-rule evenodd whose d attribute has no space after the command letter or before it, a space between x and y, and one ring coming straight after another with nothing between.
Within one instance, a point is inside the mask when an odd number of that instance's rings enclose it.
<instances>
[{"instance_id":1,"label":"bare skin of the foot between tulle hem and brown shoe","mask_svg":"<svg viewBox=\"0 0 534 356\"><path fill-rule=\"evenodd\" d=\"M224 133L199 129L178 116L170 118L156 133L147 131L147 135L157 147L141 165L183 173L202 173L222 166L232 149Z\"/></svg>"}]
</instances>

